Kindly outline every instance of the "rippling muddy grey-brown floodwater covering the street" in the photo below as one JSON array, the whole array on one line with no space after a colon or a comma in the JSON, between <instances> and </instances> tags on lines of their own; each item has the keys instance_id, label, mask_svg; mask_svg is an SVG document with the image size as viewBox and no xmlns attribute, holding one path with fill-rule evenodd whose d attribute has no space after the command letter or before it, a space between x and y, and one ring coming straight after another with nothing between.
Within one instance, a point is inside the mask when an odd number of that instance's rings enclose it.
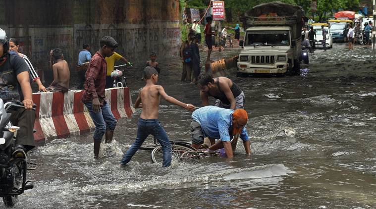
<instances>
[{"instance_id":1,"label":"rippling muddy grey-brown floodwater covering the street","mask_svg":"<svg viewBox=\"0 0 376 209\"><path fill-rule=\"evenodd\" d=\"M178 57L160 62L167 94L200 106L198 88L180 82ZM143 85L140 72L128 72L133 101ZM35 188L15 208L376 208L376 61L369 48L318 50L299 76L229 77L245 93L251 156L239 142L232 160L162 168L150 151L139 151L120 168L135 138L137 110L118 122L100 160L93 159L92 133L41 145L30 155L38 163L28 172ZM190 120L190 112L161 102L170 140L189 140Z\"/></svg>"}]
</instances>

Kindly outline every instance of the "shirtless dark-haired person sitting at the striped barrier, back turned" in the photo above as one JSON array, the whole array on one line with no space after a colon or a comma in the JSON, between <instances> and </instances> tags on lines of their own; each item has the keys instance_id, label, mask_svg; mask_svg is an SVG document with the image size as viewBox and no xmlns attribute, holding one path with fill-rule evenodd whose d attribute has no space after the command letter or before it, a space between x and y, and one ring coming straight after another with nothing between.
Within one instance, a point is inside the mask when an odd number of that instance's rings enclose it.
<instances>
[{"instance_id":1,"label":"shirtless dark-haired person sitting at the striped barrier, back turned","mask_svg":"<svg viewBox=\"0 0 376 209\"><path fill-rule=\"evenodd\" d=\"M51 85L46 88L48 92L65 93L69 88L70 71L68 62L64 60L64 54L61 49L53 49L50 52L50 62L54 62L52 70L54 72L54 80Z\"/></svg>"}]
</instances>

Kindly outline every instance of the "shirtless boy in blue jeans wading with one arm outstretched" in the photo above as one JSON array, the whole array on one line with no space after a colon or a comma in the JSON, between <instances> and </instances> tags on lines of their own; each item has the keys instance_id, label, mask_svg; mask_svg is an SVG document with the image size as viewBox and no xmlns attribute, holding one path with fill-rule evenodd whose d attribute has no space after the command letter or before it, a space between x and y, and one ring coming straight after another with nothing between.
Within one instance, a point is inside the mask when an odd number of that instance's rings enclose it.
<instances>
[{"instance_id":1,"label":"shirtless boy in blue jeans wading with one arm outstretched","mask_svg":"<svg viewBox=\"0 0 376 209\"><path fill-rule=\"evenodd\" d=\"M156 85L158 82L158 72L154 67L148 66L144 70L146 85L138 94L134 104L135 108L142 108L140 119L138 120L137 138L127 153L120 161L120 165L127 164L137 150L144 143L145 139L152 134L158 139L163 151L163 167L171 164L171 145L167 134L158 120L160 97L171 104L179 105L187 110L194 111L195 106L185 104L173 97L168 96L162 86Z\"/></svg>"}]
</instances>

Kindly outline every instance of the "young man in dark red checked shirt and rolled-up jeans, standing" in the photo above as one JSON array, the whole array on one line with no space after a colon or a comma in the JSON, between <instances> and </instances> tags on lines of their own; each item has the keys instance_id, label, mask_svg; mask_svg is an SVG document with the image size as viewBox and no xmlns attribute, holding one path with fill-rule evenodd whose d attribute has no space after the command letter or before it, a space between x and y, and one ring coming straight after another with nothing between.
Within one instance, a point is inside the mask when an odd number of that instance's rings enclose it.
<instances>
[{"instance_id":1,"label":"young man in dark red checked shirt and rolled-up jeans, standing","mask_svg":"<svg viewBox=\"0 0 376 209\"><path fill-rule=\"evenodd\" d=\"M89 109L90 117L95 124L94 131L94 157L98 158L103 135L106 133L106 143L112 141L113 131L116 127L116 118L111 112L105 97L107 62L109 57L117 48L116 41L105 36L100 41L101 49L95 53L90 60L89 68L86 71L86 83L82 94L82 103Z\"/></svg>"}]
</instances>

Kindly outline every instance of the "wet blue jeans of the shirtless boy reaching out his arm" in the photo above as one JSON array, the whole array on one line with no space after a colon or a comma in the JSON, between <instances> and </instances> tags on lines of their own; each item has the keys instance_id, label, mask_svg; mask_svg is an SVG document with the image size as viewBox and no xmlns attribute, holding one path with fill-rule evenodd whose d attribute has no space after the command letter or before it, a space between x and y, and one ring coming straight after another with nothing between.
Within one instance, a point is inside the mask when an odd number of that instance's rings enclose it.
<instances>
[{"instance_id":1,"label":"wet blue jeans of the shirtless boy reaching out his arm","mask_svg":"<svg viewBox=\"0 0 376 209\"><path fill-rule=\"evenodd\" d=\"M138 120L137 128L137 138L136 141L132 144L129 150L124 154L124 157L121 159L120 164L127 164L137 150L144 143L145 139L149 135L153 135L157 138L158 142L162 146L163 151L163 164L162 167L168 167L171 165L171 144L168 140L167 134L161 126L161 123L158 119L142 119Z\"/></svg>"}]
</instances>

